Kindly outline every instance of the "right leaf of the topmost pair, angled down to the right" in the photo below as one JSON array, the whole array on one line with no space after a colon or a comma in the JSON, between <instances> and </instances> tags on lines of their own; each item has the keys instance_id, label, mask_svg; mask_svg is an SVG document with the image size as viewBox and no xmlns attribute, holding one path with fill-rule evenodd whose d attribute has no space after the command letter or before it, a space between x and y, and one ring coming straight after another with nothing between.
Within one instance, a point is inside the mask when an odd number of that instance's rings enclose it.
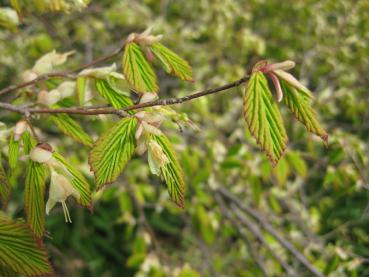
<instances>
[{"instance_id":1,"label":"right leaf of the topmost pair, angled down to the right","mask_svg":"<svg viewBox=\"0 0 369 277\"><path fill-rule=\"evenodd\" d=\"M150 49L167 73L173 74L183 81L193 81L192 68L186 60L160 42L153 43Z\"/></svg>"}]
</instances>

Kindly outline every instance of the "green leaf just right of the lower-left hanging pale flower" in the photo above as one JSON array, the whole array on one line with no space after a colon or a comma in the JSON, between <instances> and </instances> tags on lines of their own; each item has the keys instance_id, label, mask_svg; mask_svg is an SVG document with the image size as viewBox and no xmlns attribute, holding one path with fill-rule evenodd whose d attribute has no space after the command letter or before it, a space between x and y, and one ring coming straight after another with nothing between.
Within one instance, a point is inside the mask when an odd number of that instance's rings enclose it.
<instances>
[{"instance_id":1,"label":"green leaf just right of the lower-left hanging pale flower","mask_svg":"<svg viewBox=\"0 0 369 277\"><path fill-rule=\"evenodd\" d=\"M57 161L59 161L72 176L71 184L79 192L80 195L78 203L91 210L92 206L90 184L87 182L85 176L83 176L83 174L79 172L75 166L68 163L61 154L54 152L53 157Z\"/></svg>"}]
</instances>

